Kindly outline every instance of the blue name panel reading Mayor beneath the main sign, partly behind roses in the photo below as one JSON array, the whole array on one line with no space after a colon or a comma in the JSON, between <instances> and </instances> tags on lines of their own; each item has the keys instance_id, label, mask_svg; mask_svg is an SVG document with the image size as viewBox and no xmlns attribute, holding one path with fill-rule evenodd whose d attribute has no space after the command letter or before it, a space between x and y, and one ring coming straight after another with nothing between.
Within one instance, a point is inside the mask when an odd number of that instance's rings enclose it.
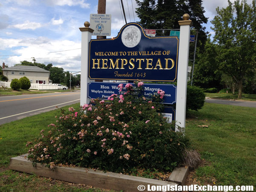
<instances>
[{"instance_id":1,"label":"blue name panel reading Mayor beneath the main sign, partly behind roses","mask_svg":"<svg viewBox=\"0 0 256 192\"><path fill-rule=\"evenodd\" d=\"M108 83L108 82L90 82L88 83L88 98L90 99L108 99L112 94L124 94L126 88L119 91L117 87L120 83ZM125 83L123 83L125 86ZM135 86L135 84L132 84ZM144 84L144 96L151 97L157 94L158 90L163 90L165 95L163 100L165 104L176 103L176 89L173 84Z\"/></svg>"}]
</instances>

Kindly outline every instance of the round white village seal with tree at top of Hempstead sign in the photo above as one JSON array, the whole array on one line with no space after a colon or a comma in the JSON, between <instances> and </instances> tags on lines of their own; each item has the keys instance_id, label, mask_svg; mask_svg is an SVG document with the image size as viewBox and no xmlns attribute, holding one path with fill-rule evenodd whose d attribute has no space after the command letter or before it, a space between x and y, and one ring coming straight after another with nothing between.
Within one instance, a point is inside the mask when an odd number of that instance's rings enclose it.
<instances>
[{"instance_id":1,"label":"round white village seal with tree at top of Hempstead sign","mask_svg":"<svg viewBox=\"0 0 256 192\"><path fill-rule=\"evenodd\" d=\"M122 32L122 43L125 47L135 47L140 43L141 32L137 26L128 26Z\"/></svg>"}]
</instances>

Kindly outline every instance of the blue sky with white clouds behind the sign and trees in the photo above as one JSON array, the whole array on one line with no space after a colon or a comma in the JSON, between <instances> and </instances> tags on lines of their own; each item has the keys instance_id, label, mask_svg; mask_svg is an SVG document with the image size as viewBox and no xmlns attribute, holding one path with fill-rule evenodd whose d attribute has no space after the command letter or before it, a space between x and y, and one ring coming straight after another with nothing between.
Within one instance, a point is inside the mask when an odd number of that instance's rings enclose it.
<instances>
[{"instance_id":1,"label":"blue sky with white clouds behind the sign and trees","mask_svg":"<svg viewBox=\"0 0 256 192\"><path fill-rule=\"evenodd\" d=\"M125 21L120 0L106 0L106 14L111 14L111 37L116 37ZM231 0L234 2L234 0ZM250 4L252 0L247 0ZM135 0L123 0L127 22L139 21ZM205 16L210 21L216 7L227 7L227 0L203 0ZM96 14L97 0L0 0L0 65L9 67L20 61L32 61L79 72L81 32L90 14ZM96 36L93 36L96 38Z\"/></svg>"}]
</instances>

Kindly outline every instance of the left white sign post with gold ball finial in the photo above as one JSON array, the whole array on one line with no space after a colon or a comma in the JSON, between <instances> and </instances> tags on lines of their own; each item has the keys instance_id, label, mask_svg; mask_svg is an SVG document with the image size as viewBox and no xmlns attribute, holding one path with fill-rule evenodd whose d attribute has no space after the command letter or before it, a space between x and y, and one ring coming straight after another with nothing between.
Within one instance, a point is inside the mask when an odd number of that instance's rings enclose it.
<instances>
[{"instance_id":1,"label":"left white sign post with gold ball finial","mask_svg":"<svg viewBox=\"0 0 256 192\"><path fill-rule=\"evenodd\" d=\"M88 96L88 58L89 58L89 42L92 38L93 29L89 28L90 23L84 22L85 27L79 28L82 32L81 39L81 91L80 91L80 105L89 104Z\"/></svg>"}]
</instances>

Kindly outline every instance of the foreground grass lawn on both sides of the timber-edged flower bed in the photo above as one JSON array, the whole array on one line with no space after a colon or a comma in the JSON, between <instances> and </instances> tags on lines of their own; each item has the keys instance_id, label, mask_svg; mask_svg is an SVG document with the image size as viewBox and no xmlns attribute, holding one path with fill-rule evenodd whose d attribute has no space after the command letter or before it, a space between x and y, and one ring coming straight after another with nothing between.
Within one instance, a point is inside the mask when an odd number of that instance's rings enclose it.
<instances>
[{"instance_id":1,"label":"foreground grass lawn on both sides of the timber-edged flower bed","mask_svg":"<svg viewBox=\"0 0 256 192\"><path fill-rule=\"evenodd\" d=\"M72 106L79 108L79 104ZM26 153L26 142L38 137L42 129L48 131L47 125L55 122L58 113L50 111L0 125L0 191L100 191L8 169L10 157ZM199 111L189 111L186 135L204 159L204 166L195 170L193 179L201 185L256 187L255 114L256 108L210 103Z\"/></svg>"}]
</instances>

